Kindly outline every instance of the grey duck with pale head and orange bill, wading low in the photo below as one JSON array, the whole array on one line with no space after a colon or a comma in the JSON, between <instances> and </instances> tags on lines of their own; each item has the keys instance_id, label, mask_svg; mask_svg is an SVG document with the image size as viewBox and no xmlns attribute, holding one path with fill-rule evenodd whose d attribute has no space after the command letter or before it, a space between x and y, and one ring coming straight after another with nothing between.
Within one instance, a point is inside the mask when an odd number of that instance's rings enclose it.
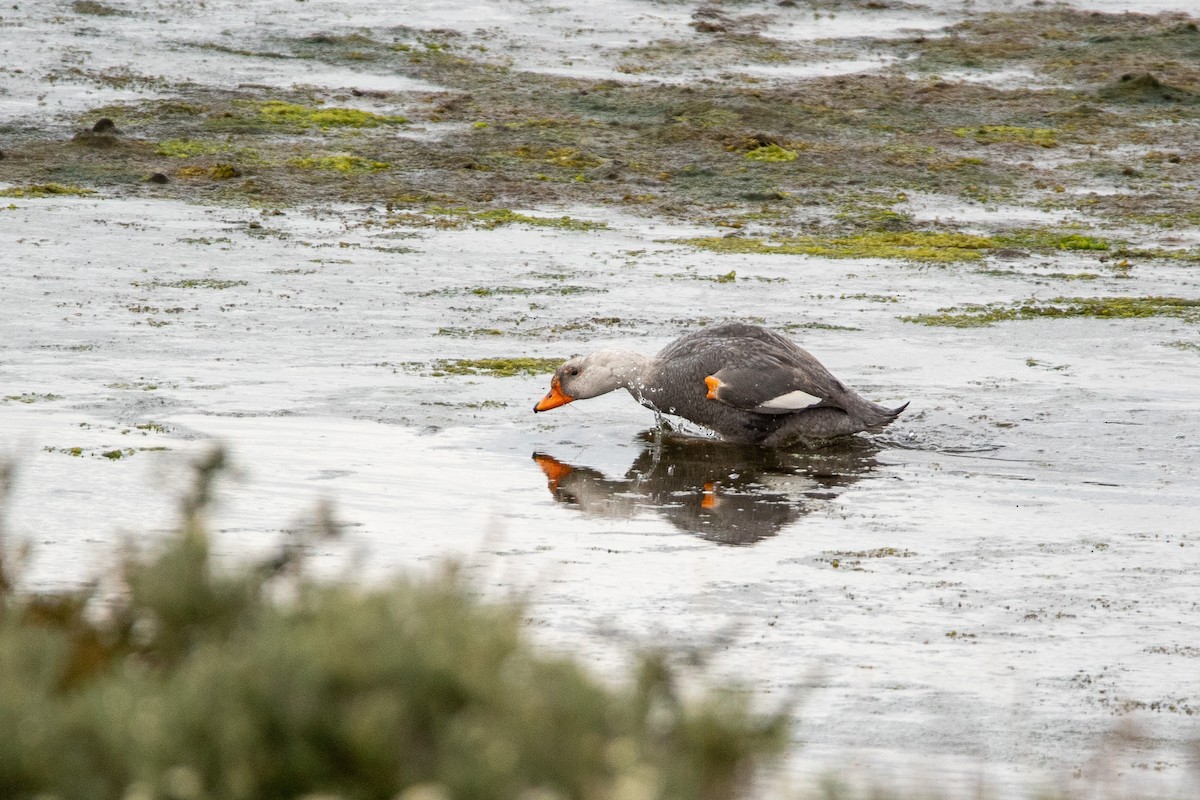
<instances>
[{"instance_id":1,"label":"grey duck with pale head and orange bill, wading low","mask_svg":"<svg viewBox=\"0 0 1200 800\"><path fill-rule=\"evenodd\" d=\"M685 333L654 356L617 349L575 356L554 371L533 410L618 389L727 441L767 447L876 432L908 407L874 403L786 336L731 321Z\"/></svg>"}]
</instances>

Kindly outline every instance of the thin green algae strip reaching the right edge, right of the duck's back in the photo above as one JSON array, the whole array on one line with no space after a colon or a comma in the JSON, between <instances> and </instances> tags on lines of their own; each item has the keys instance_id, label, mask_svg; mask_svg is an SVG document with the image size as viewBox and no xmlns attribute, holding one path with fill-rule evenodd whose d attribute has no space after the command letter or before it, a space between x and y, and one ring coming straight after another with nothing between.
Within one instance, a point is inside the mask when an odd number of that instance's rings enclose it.
<instances>
[{"instance_id":1,"label":"thin green algae strip reaching the right edge, right of the duck's back","mask_svg":"<svg viewBox=\"0 0 1200 800\"><path fill-rule=\"evenodd\" d=\"M935 314L901 317L906 323L949 327L986 327L1020 319L1148 319L1171 317L1200 321L1200 300L1187 297L1054 297L1015 303L965 305Z\"/></svg>"}]
</instances>

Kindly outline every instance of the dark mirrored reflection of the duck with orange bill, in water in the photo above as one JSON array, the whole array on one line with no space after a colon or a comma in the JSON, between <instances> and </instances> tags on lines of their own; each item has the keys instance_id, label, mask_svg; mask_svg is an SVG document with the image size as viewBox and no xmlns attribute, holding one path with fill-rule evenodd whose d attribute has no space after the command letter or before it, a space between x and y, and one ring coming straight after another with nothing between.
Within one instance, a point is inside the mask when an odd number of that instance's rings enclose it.
<instances>
[{"instance_id":1,"label":"dark mirrored reflection of the duck with orange bill, in water","mask_svg":"<svg viewBox=\"0 0 1200 800\"><path fill-rule=\"evenodd\" d=\"M833 498L876 464L868 441L790 453L666 434L608 479L545 453L534 459L559 503L587 515L632 517L652 510L673 525L724 545L752 545Z\"/></svg>"}]
</instances>

